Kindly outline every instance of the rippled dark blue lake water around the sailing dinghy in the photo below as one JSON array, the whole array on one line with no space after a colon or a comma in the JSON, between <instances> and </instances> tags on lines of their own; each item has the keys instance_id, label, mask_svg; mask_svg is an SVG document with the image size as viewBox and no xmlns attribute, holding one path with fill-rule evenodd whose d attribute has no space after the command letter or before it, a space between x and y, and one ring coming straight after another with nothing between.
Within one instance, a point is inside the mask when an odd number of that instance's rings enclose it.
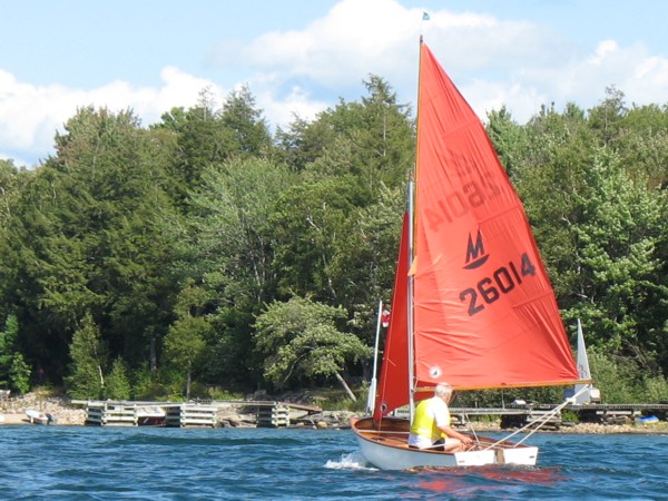
<instances>
[{"instance_id":1,"label":"rippled dark blue lake water around the sailing dinghy","mask_svg":"<svg viewBox=\"0 0 668 501\"><path fill-rule=\"evenodd\" d=\"M0 426L0 498L668 499L667 435L534 435L539 466L377 471L350 431Z\"/></svg>"}]
</instances>

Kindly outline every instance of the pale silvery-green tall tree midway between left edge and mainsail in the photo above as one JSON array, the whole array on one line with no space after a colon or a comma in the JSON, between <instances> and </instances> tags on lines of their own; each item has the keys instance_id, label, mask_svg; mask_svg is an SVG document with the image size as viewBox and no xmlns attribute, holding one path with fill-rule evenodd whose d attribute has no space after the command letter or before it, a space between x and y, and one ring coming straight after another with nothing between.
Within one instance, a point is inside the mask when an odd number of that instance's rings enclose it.
<instances>
[{"instance_id":1,"label":"pale silvery-green tall tree midway between left edge and mainsail","mask_svg":"<svg viewBox=\"0 0 668 501\"><path fill-rule=\"evenodd\" d=\"M253 385L253 315L275 297L274 233L269 220L289 175L264 159L235 159L208 168L190 199L189 228L176 245L207 294L200 305L212 324L200 376Z\"/></svg>"}]
</instances>

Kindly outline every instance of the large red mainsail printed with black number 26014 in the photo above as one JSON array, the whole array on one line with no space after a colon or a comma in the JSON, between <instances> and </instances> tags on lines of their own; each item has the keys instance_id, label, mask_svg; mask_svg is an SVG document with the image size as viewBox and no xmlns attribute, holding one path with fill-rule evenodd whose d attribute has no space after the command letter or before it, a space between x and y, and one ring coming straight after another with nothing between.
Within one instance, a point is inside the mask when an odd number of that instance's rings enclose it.
<instances>
[{"instance_id":1,"label":"large red mainsail printed with black number 26014","mask_svg":"<svg viewBox=\"0 0 668 501\"><path fill-rule=\"evenodd\" d=\"M416 386L578 380L521 202L474 111L421 45L414 209Z\"/></svg>"}]
</instances>

